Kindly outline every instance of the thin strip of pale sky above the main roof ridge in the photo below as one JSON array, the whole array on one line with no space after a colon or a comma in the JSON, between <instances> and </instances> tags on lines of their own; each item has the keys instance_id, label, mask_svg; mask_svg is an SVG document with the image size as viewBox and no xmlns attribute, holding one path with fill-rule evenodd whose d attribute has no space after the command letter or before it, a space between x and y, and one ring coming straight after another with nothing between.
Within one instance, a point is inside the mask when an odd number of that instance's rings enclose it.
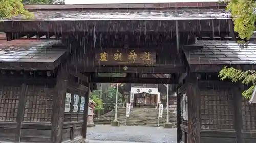
<instances>
[{"instance_id":1,"label":"thin strip of pale sky above the main roof ridge","mask_svg":"<svg viewBox=\"0 0 256 143\"><path fill-rule=\"evenodd\" d=\"M219 0L65 0L66 5L75 4L131 4L131 3L186 3L186 2L219 2Z\"/></svg>"}]
</instances>

